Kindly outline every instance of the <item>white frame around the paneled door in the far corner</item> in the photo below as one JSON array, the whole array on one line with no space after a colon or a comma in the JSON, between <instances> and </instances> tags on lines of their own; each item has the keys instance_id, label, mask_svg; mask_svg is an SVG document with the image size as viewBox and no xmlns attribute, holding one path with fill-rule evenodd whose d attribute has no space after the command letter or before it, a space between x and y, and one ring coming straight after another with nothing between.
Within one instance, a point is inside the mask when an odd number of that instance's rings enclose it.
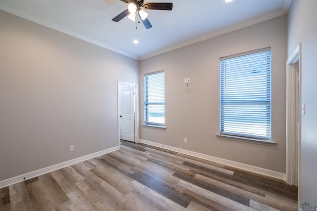
<instances>
[{"instance_id":1,"label":"white frame around the paneled door in the far corner","mask_svg":"<svg viewBox=\"0 0 317 211\"><path fill-rule=\"evenodd\" d=\"M118 111L118 146L120 148L120 86L124 85L133 85L135 87L135 94L134 94L134 102L135 102L135 143L138 143L139 140L139 85L132 84L127 82L120 82L118 81L117 84L117 111Z\"/></svg>"}]
</instances>

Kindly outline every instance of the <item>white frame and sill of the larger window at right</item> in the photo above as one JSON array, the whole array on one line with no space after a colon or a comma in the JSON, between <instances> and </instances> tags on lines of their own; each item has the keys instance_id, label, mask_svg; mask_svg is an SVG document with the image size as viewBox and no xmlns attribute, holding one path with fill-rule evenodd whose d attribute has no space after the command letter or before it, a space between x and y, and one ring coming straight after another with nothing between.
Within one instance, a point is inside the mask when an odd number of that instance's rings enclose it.
<instances>
[{"instance_id":1,"label":"white frame and sill of the larger window at right","mask_svg":"<svg viewBox=\"0 0 317 211\"><path fill-rule=\"evenodd\" d=\"M230 119L226 119L226 117L224 117L224 114L222 112L225 111L224 109L224 104L226 103L232 103L234 100L231 101L224 101L224 90L223 90L223 71L226 71L226 67L223 69L223 67L221 67L221 62L225 61L225 60L229 60L229 59L235 59L238 57L242 57L242 56L248 56L248 55L254 55L257 53L264 53L266 51L269 51L269 70L266 67L265 69L265 74L269 74L269 81L266 82L266 90L267 87L269 87L269 117L266 116L266 127L267 127L267 121L269 120L269 128L268 128L268 133L266 134L266 136L257 136L257 135L250 135L250 131L247 132L241 132L242 130L240 130L240 132L228 132L225 131L224 129L224 122ZM271 138L271 125L272 125L272 119L271 119L271 114L272 114L272 102L271 102L271 98L272 98L272 94L271 94L271 90L272 90L272 83L271 83L271 70L272 70L272 52L271 52L271 47L267 47L267 48L262 48L262 49L258 49L258 50L253 50L253 51L248 51L248 52L244 52L244 53L239 53L239 54L234 54L231 56L225 56L225 57L221 57L219 59L219 134L217 134L217 136L221 137L221 138L229 138L229 139L235 139L235 140L239 140L239 141L247 141L247 142L254 142L254 141L258 141L258 142L262 142L262 143L268 143L268 144L274 144L272 142L272 138ZM240 68L241 69L241 68ZM236 70L236 72L238 73L239 70ZM225 74L225 73L224 73ZM250 73L249 73L250 74ZM224 79L225 81L225 79ZM224 82L225 83L225 82ZM268 85L267 85L268 84ZM250 94L250 92L249 92ZM267 94L266 94L267 95ZM250 95L247 95L250 96ZM228 97L226 97L228 98ZM230 99L230 98L229 98ZM234 97L232 97L232 99L234 99ZM233 105L245 105L245 103L250 103L253 101L248 101L248 100L244 100L244 101L240 101L239 103L236 102L236 104L233 103ZM259 101L260 102L260 101ZM267 104L267 101L265 101ZM262 105L264 103L262 102ZM259 103L260 105L260 103ZM266 108L267 110L267 108ZM267 111L266 111L267 114ZM256 118L255 118L256 119ZM265 118L264 118L265 119ZM245 122L244 122L245 123ZM234 130L234 129L233 129ZM267 132L267 131L266 131Z\"/></svg>"}]
</instances>

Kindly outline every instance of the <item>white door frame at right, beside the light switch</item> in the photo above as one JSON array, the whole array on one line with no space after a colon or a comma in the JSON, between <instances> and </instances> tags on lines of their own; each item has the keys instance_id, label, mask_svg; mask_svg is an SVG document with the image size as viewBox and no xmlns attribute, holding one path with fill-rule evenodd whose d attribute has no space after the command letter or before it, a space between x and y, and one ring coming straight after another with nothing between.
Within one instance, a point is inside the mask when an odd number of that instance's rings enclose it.
<instances>
[{"instance_id":1,"label":"white door frame at right, beside the light switch","mask_svg":"<svg viewBox=\"0 0 317 211\"><path fill-rule=\"evenodd\" d=\"M296 138L298 138L298 165L301 158L301 129L298 129L298 137L296 137L297 127L301 128L301 115L296 123L296 66L298 63L298 81L299 81L299 105L301 105L301 70L302 70L302 45L296 47L295 51L286 62L286 177L285 181L291 185L298 185L296 174L298 172L298 180L300 180L299 166L296 164ZM300 108L298 108L300 109ZM299 113L301 114L301 113ZM298 124L298 126L297 126Z\"/></svg>"}]
</instances>

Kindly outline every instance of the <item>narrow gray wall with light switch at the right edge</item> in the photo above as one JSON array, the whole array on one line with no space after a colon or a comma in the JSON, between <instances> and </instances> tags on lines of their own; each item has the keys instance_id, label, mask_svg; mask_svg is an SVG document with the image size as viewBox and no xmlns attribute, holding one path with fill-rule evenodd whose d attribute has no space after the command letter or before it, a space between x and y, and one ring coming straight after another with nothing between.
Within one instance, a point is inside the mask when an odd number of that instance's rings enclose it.
<instances>
[{"instance_id":1,"label":"narrow gray wall with light switch at the right edge","mask_svg":"<svg viewBox=\"0 0 317 211\"><path fill-rule=\"evenodd\" d=\"M317 1L292 0L288 14L288 56L302 43L302 143L299 203L317 206Z\"/></svg>"}]
</instances>

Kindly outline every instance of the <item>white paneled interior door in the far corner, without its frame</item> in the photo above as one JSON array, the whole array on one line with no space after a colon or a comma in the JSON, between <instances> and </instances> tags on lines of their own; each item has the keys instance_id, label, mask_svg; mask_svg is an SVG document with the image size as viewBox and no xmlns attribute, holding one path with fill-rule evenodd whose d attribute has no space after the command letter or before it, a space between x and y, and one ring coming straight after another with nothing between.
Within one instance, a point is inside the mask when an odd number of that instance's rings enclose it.
<instances>
[{"instance_id":1,"label":"white paneled interior door in the far corner, without its frame","mask_svg":"<svg viewBox=\"0 0 317 211\"><path fill-rule=\"evenodd\" d=\"M134 142L134 86L121 87L120 99L120 139Z\"/></svg>"}]
</instances>

